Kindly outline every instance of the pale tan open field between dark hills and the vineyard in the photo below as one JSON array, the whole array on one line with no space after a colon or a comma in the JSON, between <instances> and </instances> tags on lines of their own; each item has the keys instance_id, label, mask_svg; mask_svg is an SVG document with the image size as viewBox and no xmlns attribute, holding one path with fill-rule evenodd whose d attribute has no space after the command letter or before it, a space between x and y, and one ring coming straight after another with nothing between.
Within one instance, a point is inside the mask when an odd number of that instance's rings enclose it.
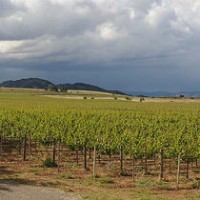
<instances>
[{"instance_id":1,"label":"pale tan open field between dark hills and the vineyard","mask_svg":"<svg viewBox=\"0 0 200 200\"><path fill-rule=\"evenodd\" d=\"M96 100L124 100L124 101L133 101L140 102L141 97L134 97L128 95L119 95L112 94L107 92L97 92L89 90L68 90L67 92L53 92L47 91L44 89L30 89L30 88L0 88L0 94L35 94L36 96L44 95L46 97L55 98L55 99L96 99ZM193 97L161 97L161 98L152 98L144 97L142 100L143 103L200 103L200 98Z\"/></svg>"}]
</instances>

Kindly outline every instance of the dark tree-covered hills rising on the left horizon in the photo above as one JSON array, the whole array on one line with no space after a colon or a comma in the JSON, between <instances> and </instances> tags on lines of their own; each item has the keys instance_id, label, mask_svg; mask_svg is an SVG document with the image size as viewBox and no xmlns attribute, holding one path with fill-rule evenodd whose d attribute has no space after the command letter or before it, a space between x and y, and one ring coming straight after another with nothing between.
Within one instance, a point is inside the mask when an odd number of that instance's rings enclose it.
<instances>
[{"instance_id":1,"label":"dark tree-covered hills rising on the left horizon","mask_svg":"<svg viewBox=\"0 0 200 200\"><path fill-rule=\"evenodd\" d=\"M100 88L98 86L85 84L85 83L74 83L74 84L54 84L50 81L39 79L39 78L27 78L27 79L20 79L16 81L5 81L0 83L0 87L13 87L13 88L37 88L37 89L51 89L51 90L60 90L60 91L67 91L67 90L90 90L90 91L98 91L98 92L109 92L114 94L122 94L125 95L123 92L118 90L106 90Z\"/></svg>"}]
</instances>

